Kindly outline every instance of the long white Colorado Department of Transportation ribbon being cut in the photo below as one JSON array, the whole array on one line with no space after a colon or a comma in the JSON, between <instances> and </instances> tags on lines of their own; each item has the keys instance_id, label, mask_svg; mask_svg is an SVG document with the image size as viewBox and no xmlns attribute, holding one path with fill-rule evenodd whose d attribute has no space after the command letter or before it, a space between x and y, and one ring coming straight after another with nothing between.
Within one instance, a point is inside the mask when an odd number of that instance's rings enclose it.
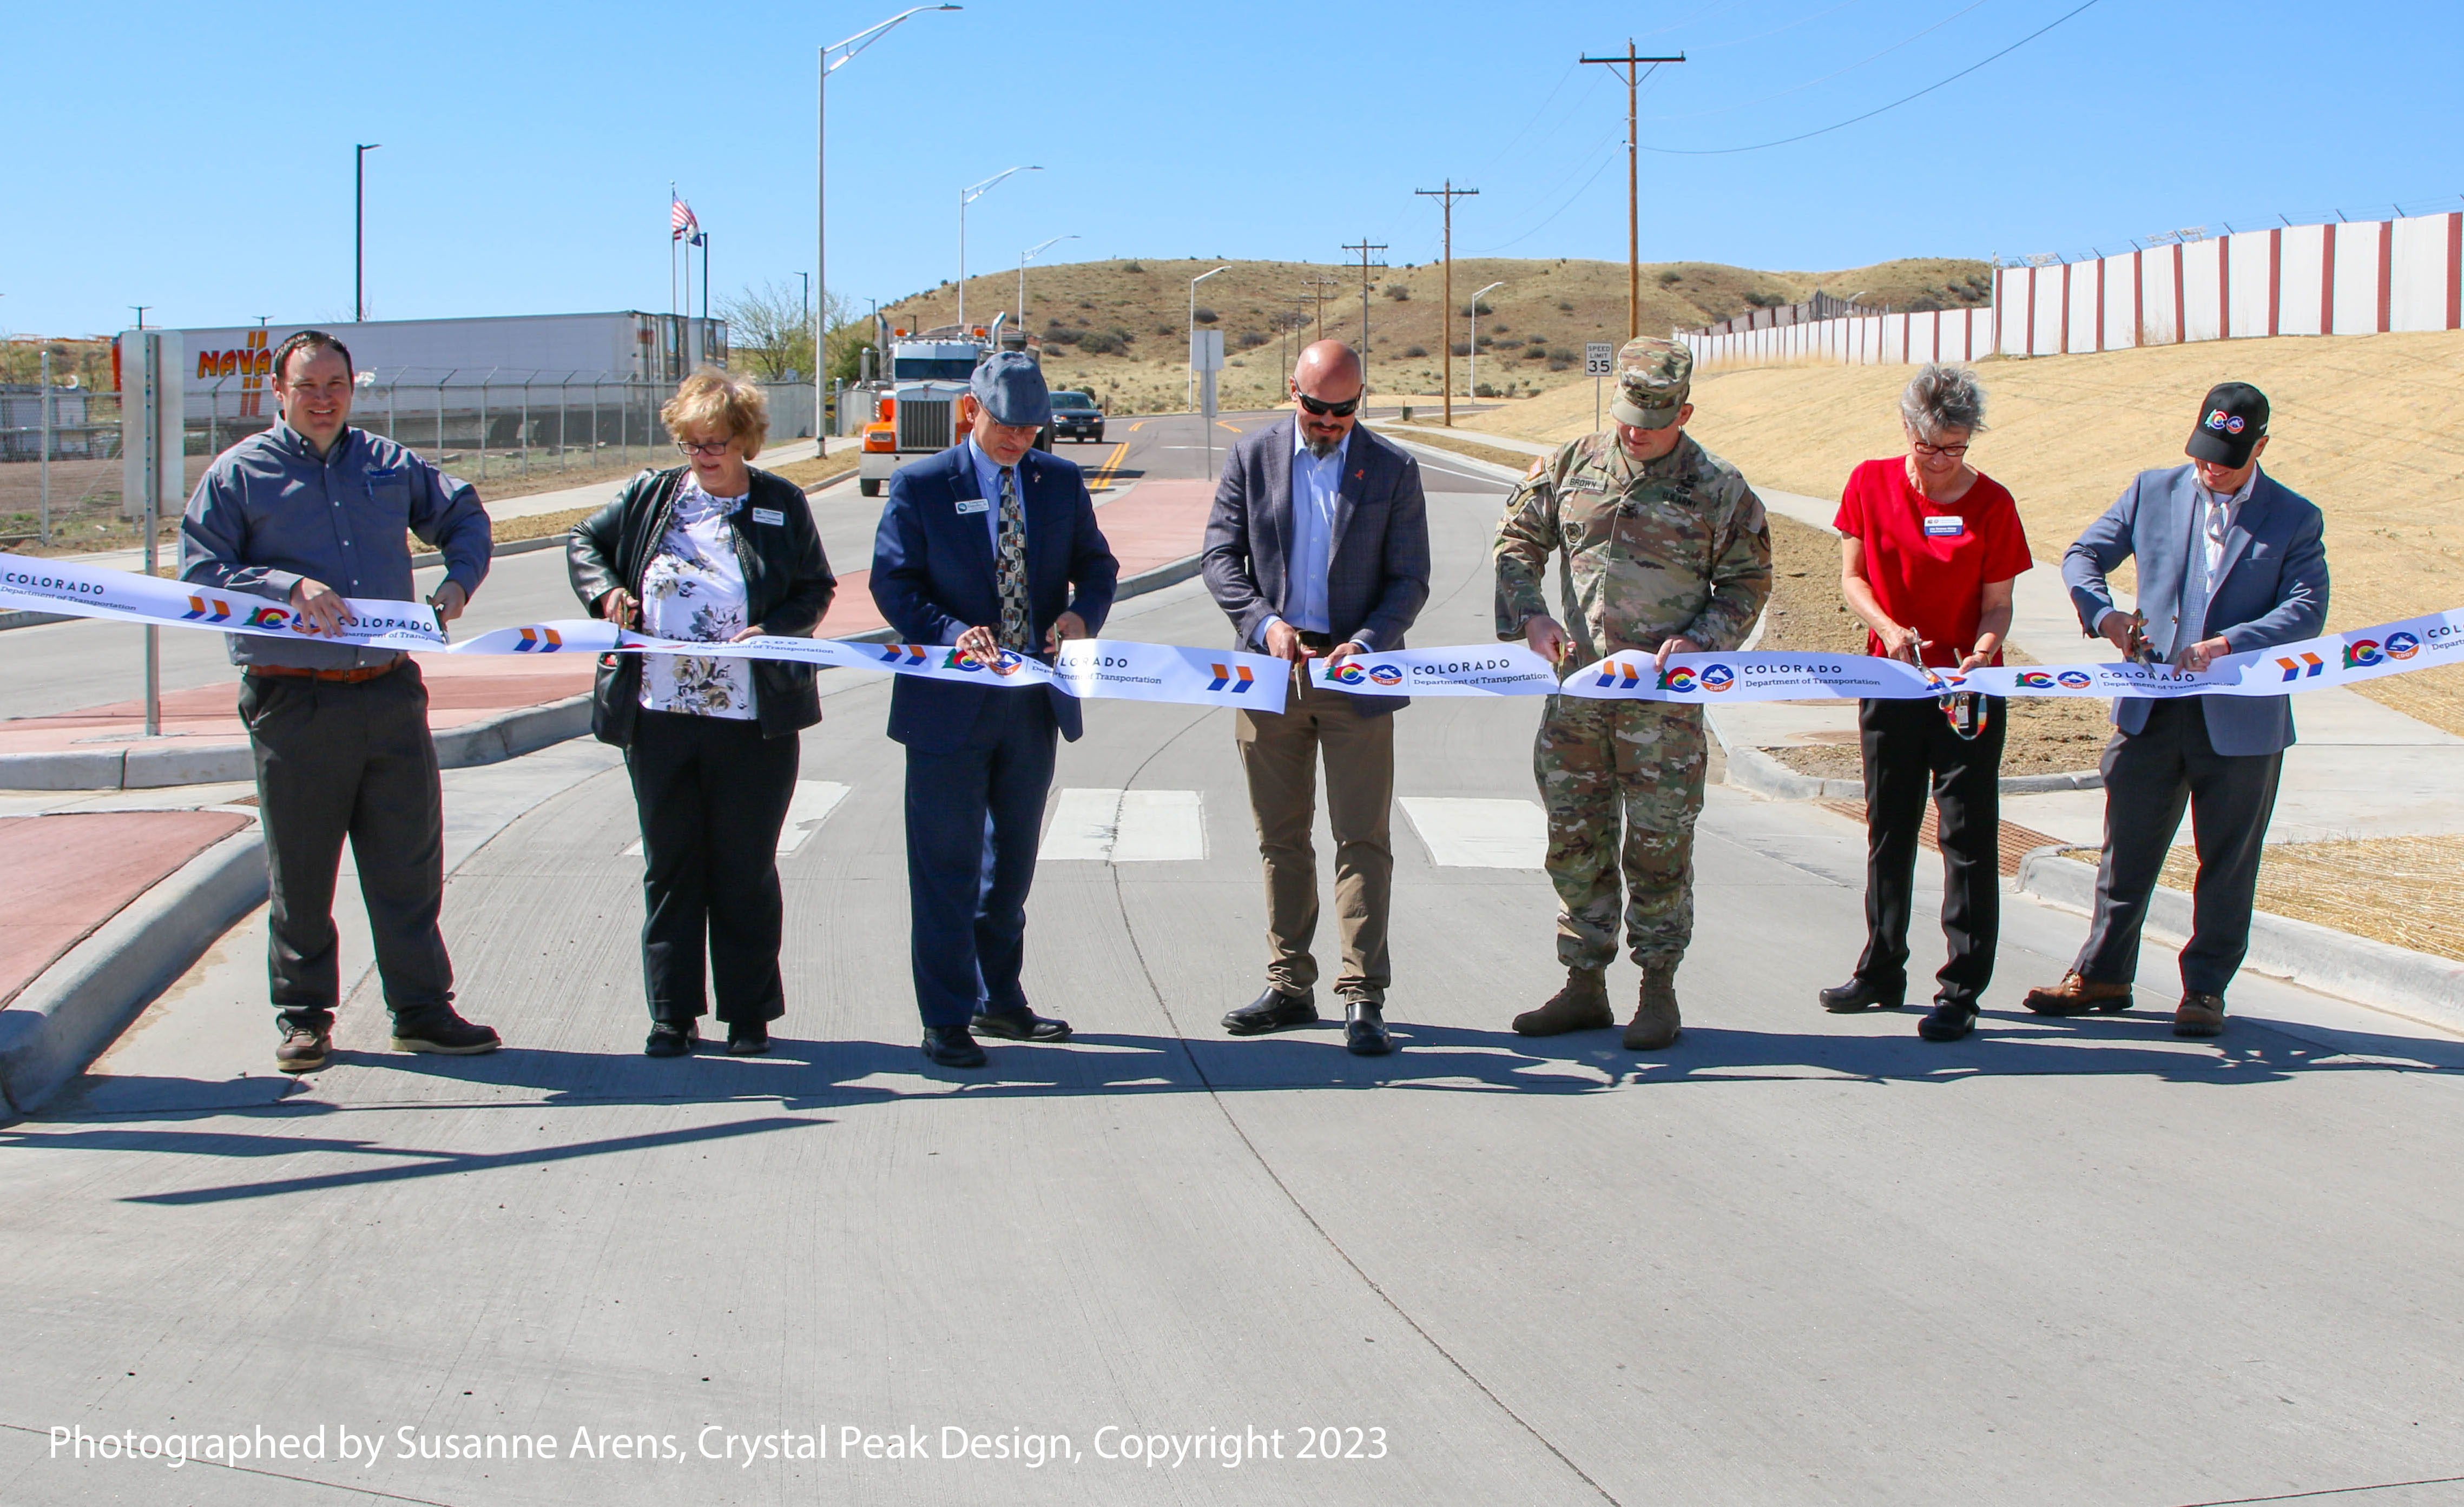
<instances>
[{"instance_id":1,"label":"long white Colorado Department of Transportation ribbon being cut","mask_svg":"<svg viewBox=\"0 0 2464 1507\"><path fill-rule=\"evenodd\" d=\"M591 618L495 628L463 643L448 643L436 625L436 613L421 603L350 598L347 606L345 630L325 635L306 628L288 606L264 596L187 586L136 571L0 554L0 608L155 628L209 628L451 655L665 653L788 660L976 685L1052 685L1074 697L1247 707L1252 712L1281 712L1291 685L1291 667L1271 655L1109 638L1064 643L1052 662L1008 650L995 662L976 662L951 645L929 643L845 643L835 638L690 643L646 638ZM1547 660L1520 643L1486 643L1355 655L1333 667L1326 660L1311 660L1308 675L1323 689L1368 697L1570 694L1720 704L1843 697L1919 699L1951 692L1991 697L2282 697L2439 665L2464 665L2464 608L2245 650L2215 660L2203 672L2122 660L2001 665L1959 675L1917 670L1902 660L1873 655L1712 653L1671 655L1663 675L1651 655L1626 650L1560 677Z\"/></svg>"}]
</instances>

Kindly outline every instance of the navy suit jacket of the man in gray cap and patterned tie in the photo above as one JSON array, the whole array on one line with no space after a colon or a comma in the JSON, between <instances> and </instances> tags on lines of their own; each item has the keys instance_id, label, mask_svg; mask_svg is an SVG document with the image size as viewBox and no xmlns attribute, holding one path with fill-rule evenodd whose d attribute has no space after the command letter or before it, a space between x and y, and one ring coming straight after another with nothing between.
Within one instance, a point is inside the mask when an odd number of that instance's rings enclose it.
<instances>
[{"instance_id":1,"label":"navy suit jacket of the man in gray cap and patterned tie","mask_svg":"<svg viewBox=\"0 0 2464 1507\"><path fill-rule=\"evenodd\" d=\"M872 601L902 643L958 643L968 628L1000 625L991 529L981 510L958 512L958 502L978 500L976 492L966 446L917 460L890 478L882 527L872 534ZM1018 463L1018 505L1027 517L1035 648L1042 650L1045 630L1064 611L1084 618L1087 633L1101 633L1121 561L1094 524L1094 497L1087 495L1077 463L1027 451ZM954 754L976 736L986 697L1018 694L1032 692L897 675L890 687L890 736L926 754ZM1077 697L1060 687L1047 687L1045 694L1052 697L1062 736L1077 739Z\"/></svg>"}]
</instances>

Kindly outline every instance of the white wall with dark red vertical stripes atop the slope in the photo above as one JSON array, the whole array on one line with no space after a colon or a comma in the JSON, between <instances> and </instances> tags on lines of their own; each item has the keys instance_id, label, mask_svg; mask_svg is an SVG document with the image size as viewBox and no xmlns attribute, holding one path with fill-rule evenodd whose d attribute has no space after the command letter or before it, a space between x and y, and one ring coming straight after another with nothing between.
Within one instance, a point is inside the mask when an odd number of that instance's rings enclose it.
<instances>
[{"instance_id":1,"label":"white wall with dark red vertical stripes atop the slope","mask_svg":"<svg viewBox=\"0 0 2464 1507\"><path fill-rule=\"evenodd\" d=\"M1698 367L1900 364L2464 328L2464 212L2232 231L1993 271L1993 308L1688 335Z\"/></svg>"}]
</instances>

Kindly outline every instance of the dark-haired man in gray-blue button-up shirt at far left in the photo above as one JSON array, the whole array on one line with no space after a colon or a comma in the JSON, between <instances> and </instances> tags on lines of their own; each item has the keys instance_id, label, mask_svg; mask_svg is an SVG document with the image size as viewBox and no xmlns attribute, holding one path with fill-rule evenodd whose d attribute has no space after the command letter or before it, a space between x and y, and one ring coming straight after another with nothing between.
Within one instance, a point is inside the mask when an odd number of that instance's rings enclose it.
<instances>
[{"instance_id":1,"label":"dark-haired man in gray-blue button-up shirt at far left","mask_svg":"<svg viewBox=\"0 0 2464 1507\"><path fill-rule=\"evenodd\" d=\"M214 458L180 520L180 576L288 603L340 625L345 598L409 601L407 534L436 544L441 623L488 576L488 512L468 483L350 428L350 350L301 330L274 352L281 421ZM232 635L239 719L256 754L266 835L269 983L283 1032L274 1066L306 1074L333 1049L342 970L333 886L350 837L397 1051L493 1051L453 1012L444 904L444 790L429 692L409 655L315 638Z\"/></svg>"}]
</instances>

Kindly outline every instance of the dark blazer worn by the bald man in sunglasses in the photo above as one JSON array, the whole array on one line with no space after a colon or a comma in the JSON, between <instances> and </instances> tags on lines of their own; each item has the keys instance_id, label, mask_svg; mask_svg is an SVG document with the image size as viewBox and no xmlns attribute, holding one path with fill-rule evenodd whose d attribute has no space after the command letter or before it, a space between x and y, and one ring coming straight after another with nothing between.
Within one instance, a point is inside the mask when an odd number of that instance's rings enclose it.
<instances>
[{"instance_id":1,"label":"dark blazer worn by the bald man in sunglasses","mask_svg":"<svg viewBox=\"0 0 2464 1507\"><path fill-rule=\"evenodd\" d=\"M1232 441L1215 512L1207 515L1205 579L1232 618L1239 648L1264 650L1266 618L1291 621L1291 451L1299 419L1284 414ZM1400 650L1429 601L1429 507L1419 460L1355 424L1335 488L1335 537L1326 561L1326 625L1335 643ZM1368 717L1407 697L1353 697Z\"/></svg>"}]
</instances>

